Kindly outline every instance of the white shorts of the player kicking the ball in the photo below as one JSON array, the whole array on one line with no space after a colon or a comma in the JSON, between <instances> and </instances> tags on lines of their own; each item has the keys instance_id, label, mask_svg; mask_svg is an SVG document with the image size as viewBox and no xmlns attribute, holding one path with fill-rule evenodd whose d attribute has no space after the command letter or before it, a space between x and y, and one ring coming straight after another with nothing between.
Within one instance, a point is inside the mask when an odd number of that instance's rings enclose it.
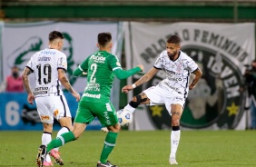
<instances>
[{"instance_id":1,"label":"white shorts of the player kicking the ball","mask_svg":"<svg viewBox=\"0 0 256 167\"><path fill-rule=\"evenodd\" d=\"M163 105L165 104L165 107L167 111L171 113L171 105L174 103L178 103L184 107L185 98L182 93L177 93L175 91L168 91L167 89L164 89L158 85L152 86L146 90L143 91L147 95L147 97L150 99L150 105Z\"/></svg>"}]
</instances>

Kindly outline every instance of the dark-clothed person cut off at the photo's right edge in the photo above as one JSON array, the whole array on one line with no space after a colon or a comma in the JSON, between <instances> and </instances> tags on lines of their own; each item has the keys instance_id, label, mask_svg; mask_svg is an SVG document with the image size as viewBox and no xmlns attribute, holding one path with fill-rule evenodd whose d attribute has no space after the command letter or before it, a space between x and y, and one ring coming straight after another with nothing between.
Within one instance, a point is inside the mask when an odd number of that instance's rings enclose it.
<instances>
[{"instance_id":1,"label":"dark-clothed person cut off at the photo's right edge","mask_svg":"<svg viewBox=\"0 0 256 167\"><path fill-rule=\"evenodd\" d=\"M256 129L256 60L253 60L244 74L249 97L251 97L251 129Z\"/></svg>"}]
</instances>

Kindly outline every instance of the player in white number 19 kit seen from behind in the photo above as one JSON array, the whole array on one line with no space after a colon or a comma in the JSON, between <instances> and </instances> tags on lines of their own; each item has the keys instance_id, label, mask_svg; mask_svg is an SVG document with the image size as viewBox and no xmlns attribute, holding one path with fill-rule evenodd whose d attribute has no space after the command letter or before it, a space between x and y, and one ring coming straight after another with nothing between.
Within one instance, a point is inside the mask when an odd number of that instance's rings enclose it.
<instances>
[{"instance_id":1,"label":"player in white number 19 kit seen from behind","mask_svg":"<svg viewBox=\"0 0 256 167\"><path fill-rule=\"evenodd\" d=\"M61 124L62 129L57 133L60 136L73 129L71 113L67 105L61 85L72 93L76 101L80 100L80 94L76 93L69 83L65 72L67 69L66 55L61 52L64 45L64 35L58 31L49 34L49 48L32 55L22 74L28 103L34 104L43 123L44 133L42 143L47 144L52 140L54 118ZM28 80L29 74L35 74L35 88L32 92ZM56 162L63 165L58 148L50 154ZM52 166L51 158L47 155L44 166Z\"/></svg>"}]
</instances>

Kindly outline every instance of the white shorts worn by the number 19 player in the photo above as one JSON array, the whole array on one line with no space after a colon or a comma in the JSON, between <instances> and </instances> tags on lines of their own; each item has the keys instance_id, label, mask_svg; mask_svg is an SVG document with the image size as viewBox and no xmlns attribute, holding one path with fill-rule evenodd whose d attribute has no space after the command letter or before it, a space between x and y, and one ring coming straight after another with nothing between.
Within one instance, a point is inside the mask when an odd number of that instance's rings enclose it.
<instances>
[{"instance_id":1,"label":"white shorts worn by the number 19 player","mask_svg":"<svg viewBox=\"0 0 256 167\"><path fill-rule=\"evenodd\" d=\"M64 95L36 97L35 103L42 123L54 123L54 118L71 117Z\"/></svg>"}]
</instances>

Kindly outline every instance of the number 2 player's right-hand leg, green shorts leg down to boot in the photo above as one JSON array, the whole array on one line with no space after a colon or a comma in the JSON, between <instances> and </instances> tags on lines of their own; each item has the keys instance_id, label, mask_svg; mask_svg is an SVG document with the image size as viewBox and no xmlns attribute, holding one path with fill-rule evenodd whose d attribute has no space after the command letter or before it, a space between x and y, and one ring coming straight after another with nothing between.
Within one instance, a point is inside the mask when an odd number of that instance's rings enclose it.
<instances>
[{"instance_id":1,"label":"number 2 player's right-hand leg, green shorts leg down to boot","mask_svg":"<svg viewBox=\"0 0 256 167\"><path fill-rule=\"evenodd\" d=\"M109 154L113 151L118 133L121 129L113 104L101 103L100 105L98 103L97 106L94 106L94 113L97 115L102 125L106 126L109 130L109 133L106 134L100 162L97 163L97 166L115 166L107 161Z\"/></svg>"}]
</instances>

